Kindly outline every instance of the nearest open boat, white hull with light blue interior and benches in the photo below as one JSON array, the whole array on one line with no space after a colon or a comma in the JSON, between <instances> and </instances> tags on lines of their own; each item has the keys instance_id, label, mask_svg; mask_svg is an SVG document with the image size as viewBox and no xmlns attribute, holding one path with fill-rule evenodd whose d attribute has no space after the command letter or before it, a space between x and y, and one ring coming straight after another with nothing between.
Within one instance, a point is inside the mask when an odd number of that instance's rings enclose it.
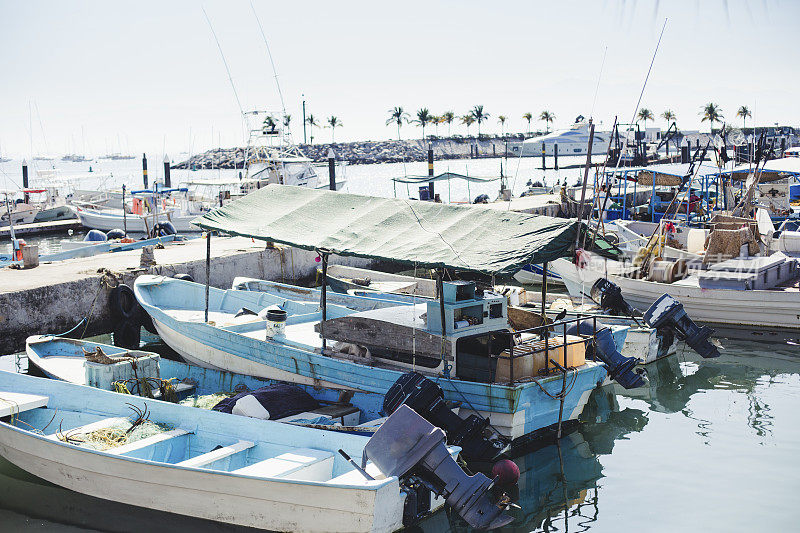
<instances>
[{"instance_id":1,"label":"nearest open boat, white hull with light blue interior and benches","mask_svg":"<svg viewBox=\"0 0 800 533\"><path fill-rule=\"evenodd\" d=\"M0 372L2 457L147 509L273 531L395 531L406 500L398 478L368 463L368 480L337 453L361 457L367 442Z\"/></svg>"}]
</instances>

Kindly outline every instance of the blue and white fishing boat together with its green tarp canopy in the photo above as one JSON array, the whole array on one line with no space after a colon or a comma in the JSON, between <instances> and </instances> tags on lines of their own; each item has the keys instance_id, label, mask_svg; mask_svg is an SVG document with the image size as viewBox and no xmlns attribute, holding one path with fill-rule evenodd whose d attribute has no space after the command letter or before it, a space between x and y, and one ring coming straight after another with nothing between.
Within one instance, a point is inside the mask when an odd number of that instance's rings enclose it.
<instances>
[{"instance_id":1,"label":"blue and white fishing boat together with its green tarp canopy","mask_svg":"<svg viewBox=\"0 0 800 533\"><path fill-rule=\"evenodd\" d=\"M315 215L323 212L325 227ZM604 364L585 358L587 337L562 335L563 328L512 331L505 297L441 279L443 267L506 273L563 255L577 221L267 186L196 223L318 250L323 278L331 253L438 267L443 296L356 312L327 304L324 279L317 303L139 277L137 299L161 338L190 363L379 394L414 370L509 439L576 420L607 378ZM442 229L427 229L434 226ZM615 331L621 345L627 328Z\"/></svg>"}]
</instances>

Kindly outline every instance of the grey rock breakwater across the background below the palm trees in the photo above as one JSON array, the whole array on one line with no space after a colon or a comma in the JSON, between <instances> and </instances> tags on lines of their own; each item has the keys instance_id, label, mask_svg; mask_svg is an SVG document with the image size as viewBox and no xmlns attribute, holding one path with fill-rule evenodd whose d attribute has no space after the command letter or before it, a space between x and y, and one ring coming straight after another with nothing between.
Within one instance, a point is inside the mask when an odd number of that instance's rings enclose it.
<instances>
[{"instance_id":1,"label":"grey rock breakwater across the background below the palm trees","mask_svg":"<svg viewBox=\"0 0 800 533\"><path fill-rule=\"evenodd\" d=\"M401 163L404 161L425 161L428 157L428 144L433 147L437 160L467 159L476 157L502 157L506 147L521 142L521 136L506 138L451 137L430 140L391 140L356 141L347 143L301 144L300 150L314 162L328 159L328 151L333 149L338 160L350 164ZM244 148L218 148L192 156L172 168L242 168Z\"/></svg>"}]
</instances>

